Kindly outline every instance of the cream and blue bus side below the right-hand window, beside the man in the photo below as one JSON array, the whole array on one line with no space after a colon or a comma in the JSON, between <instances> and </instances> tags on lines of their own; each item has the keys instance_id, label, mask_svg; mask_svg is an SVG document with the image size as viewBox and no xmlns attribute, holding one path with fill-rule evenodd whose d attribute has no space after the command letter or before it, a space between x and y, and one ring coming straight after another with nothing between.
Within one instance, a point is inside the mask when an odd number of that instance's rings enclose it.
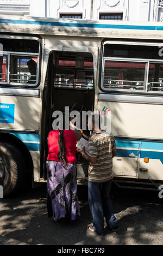
<instances>
[{"instance_id":1,"label":"cream and blue bus side below the right-hand window, beside the man","mask_svg":"<svg viewBox=\"0 0 163 256\"><path fill-rule=\"evenodd\" d=\"M163 180L163 141L154 142L154 138L162 138L160 113L163 105L101 100L98 111L102 111L104 106L111 110L111 133L128 139L116 140L114 175ZM130 140L130 137L135 140ZM145 157L149 158L148 163L144 162Z\"/></svg>"}]
</instances>

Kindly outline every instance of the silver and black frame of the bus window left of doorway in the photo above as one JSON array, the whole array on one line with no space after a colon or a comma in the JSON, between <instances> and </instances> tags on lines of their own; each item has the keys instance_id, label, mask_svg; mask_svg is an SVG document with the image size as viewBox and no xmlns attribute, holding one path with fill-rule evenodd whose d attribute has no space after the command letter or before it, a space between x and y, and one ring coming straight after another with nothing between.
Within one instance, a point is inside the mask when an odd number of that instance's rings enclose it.
<instances>
[{"instance_id":1,"label":"silver and black frame of the bus window left of doorway","mask_svg":"<svg viewBox=\"0 0 163 256\"><path fill-rule=\"evenodd\" d=\"M11 38L9 38L11 36ZM0 82L0 88L20 88L20 89L35 89L40 86L41 82L41 58L42 58L42 38L40 35L27 35L22 33L0 33L0 39L6 38L8 40L12 39L21 39L21 40L36 40L39 42L39 52L32 53L32 52L16 52L16 51L1 51L0 54L7 54L8 55L8 81L9 81L9 66L10 66L10 54L16 56L37 56L37 75L36 75L36 83L35 84L23 84L23 83L14 83L14 82Z\"/></svg>"}]
</instances>

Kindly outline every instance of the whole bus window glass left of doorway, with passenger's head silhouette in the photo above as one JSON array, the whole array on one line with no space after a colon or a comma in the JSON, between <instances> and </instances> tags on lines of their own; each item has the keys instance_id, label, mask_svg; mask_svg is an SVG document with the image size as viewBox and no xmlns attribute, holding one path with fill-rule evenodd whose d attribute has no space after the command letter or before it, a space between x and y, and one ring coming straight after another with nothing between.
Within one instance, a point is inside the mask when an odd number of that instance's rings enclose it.
<instances>
[{"instance_id":1,"label":"whole bus window glass left of doorway, with passenger's head silhouette","mask_svg":"<svg viewBox=\"0 0 163 256\"><path fill-rule=\"evenodd\" d=\"M0 85L36 86L39 47L37 40L7 39L0 35Z\"/></svg>"}]
</instances>

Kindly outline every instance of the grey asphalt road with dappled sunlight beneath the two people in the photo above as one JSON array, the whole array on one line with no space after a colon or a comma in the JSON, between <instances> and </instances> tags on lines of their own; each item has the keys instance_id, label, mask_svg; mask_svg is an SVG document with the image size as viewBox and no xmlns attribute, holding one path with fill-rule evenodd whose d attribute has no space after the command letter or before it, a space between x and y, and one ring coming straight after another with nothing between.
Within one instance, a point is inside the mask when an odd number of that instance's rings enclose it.
<instances>
[{"instance_id":1,"label":"grey asphalt road with dappled sunlight beneath the two people","mask_svg":"<svg viewBox=\"0 0 163 256\"><path fill-rule=\"evenodd\" d=\"M87 187L78 186L81 216L73 222L47 217L46 184L0 199L0 245L163 245L163 199L158 192L112 186L118 229L97 236L86 230L92 222Z\"/></svg>"}]
</instances>

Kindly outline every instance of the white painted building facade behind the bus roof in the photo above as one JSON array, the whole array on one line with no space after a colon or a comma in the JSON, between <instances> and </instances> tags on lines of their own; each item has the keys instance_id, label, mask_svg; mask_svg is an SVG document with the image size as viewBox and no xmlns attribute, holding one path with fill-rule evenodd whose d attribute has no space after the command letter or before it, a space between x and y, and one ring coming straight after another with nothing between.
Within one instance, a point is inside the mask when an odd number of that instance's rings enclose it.
<instances>
[{"instance_id":1,"label":"white painted building facade behind the bus roof","mask_svg":"<svg viewBox=\"0 0 163 256\"><path fill-rule=\"evenodd\" d=\"M0 14L163 21L163 0L0 0Z\"/></svg>"}]
</instances>

